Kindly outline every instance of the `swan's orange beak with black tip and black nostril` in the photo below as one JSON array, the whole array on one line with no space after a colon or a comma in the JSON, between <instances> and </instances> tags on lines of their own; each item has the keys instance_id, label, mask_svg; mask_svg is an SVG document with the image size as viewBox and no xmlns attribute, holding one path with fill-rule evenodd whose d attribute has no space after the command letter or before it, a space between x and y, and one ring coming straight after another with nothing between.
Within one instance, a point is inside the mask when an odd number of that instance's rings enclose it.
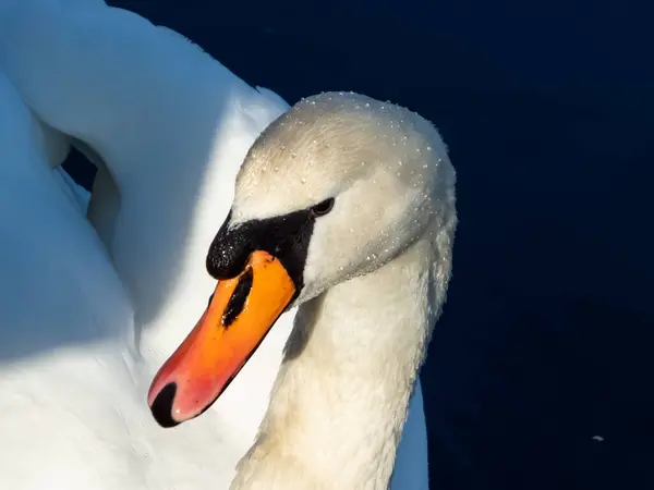
<instances>
[{"instance_id":1,"label":"swan's orange beak with black tip and black nostril","mask_svg":"<svg viewBox=\"0 0 654 490\"><path fill-rule=\"evenodd\" d=\"M211 406L294 294L279 259L263 250L237 278L218 282L202 318L153 380L147 402L157 422L173 427Z\"/></svg>"}]
</instances>

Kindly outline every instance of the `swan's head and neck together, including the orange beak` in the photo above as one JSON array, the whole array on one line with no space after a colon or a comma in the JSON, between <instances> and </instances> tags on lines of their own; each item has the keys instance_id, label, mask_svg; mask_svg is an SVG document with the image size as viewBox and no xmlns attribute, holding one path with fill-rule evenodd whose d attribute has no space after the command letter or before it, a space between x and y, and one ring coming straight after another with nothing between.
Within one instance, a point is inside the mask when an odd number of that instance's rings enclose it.
<instances>
[{"instance_id":1,"label":"swan's head and neck together, including the orange beak","mask_svg":"<svg viewBox=\"0 0 654 490\"><path fill-rule=\"evenodd\" d=\"M440 136L397 106L323 94L264 131L235 187L207 257L221 281L155 378L153 415L199 415L300 306L231 488L387 488L450 275L455 171Z\"/></svg>"}]
</instances>

